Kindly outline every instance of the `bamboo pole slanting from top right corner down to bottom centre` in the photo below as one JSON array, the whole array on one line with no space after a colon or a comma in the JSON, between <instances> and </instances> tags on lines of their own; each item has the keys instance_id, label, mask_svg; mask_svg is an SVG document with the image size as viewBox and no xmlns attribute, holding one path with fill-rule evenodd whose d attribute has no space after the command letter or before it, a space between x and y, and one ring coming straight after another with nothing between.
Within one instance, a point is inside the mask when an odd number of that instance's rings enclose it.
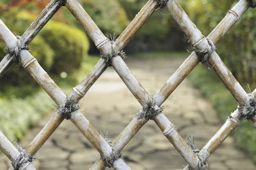
<instances>
[{"instance_id":1,"label":"bamboo pole slanting from top right corner down to bottom centre","mask_svg":"<svg viewBox=\"0 0 256 170\"><path fill-rule=\"evenodd\" d=\"M232 9L233 11L237 11L237 8L242 11L240 15L248 9L248 7L241 6L240 2ZM228 13L222 21L217 25L217 27L208 35L210 39L217 43L218 40L222 38L222 36L237 22L237 18L234 17L231 13ZM218 35L218 36L216 36ZM171 75L170 79L167 83L156 93L154 96L156 103L160 106L167 98L171 95L174 89L187 77L189 72L199 63L199 58L192 52L188 59ZM137 131L145 124L146 122L137 119L133 119L129 125L122 131L122 133L116 138L114 144L116 145L118 150L121 150L129 140L137 133ZM91 169L101 169L102 161L99 159L95 162L94 166Z\"/></svg>"}]
</instances>

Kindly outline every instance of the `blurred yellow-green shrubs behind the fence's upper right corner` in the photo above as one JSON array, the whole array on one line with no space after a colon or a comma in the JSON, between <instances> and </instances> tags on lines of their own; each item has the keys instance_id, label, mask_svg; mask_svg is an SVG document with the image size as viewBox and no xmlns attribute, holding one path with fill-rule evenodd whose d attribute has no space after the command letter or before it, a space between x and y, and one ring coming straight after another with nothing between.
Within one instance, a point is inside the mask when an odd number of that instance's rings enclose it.
<instances>
[{"instance_id":1,"label":"blurred yellow-green shrubs behind the fence's upper right corner","mask_svg":"<svg viewBox=\"0 0 256 170\"><path fill-rule=\"evenodd\" d=\"M235 5L229 1L189 0L184 5L188 15L197 23L198 28L207 35ZM222 5L220 5L222 4ZM233 75L243 85L256 87L256 13L252 8L241 17L217 44L217 52Z\"/></svg>"}]
</instances>

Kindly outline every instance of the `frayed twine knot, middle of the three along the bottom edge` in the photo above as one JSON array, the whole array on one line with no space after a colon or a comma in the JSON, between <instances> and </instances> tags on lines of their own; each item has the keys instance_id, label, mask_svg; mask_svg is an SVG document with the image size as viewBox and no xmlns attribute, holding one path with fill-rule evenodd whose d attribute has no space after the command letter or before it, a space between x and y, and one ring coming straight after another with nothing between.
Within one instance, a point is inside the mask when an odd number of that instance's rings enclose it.
<instances>
[{"instance_id":1,"label":"frayed twine knot, middle of the three along the bottom edge","mask_svg":"<svg viewBox=\"0 0 256 170\"><path fill-rule=\"evenodd\" d=\"M112 152L110 153L110 155L101 155L101 159L102 161L106 162L108 168L112 168L115 160L119 159L122 156L122 154L117 150L116 146L114 146L114 144L111 141L107 140L107 135L105 133L101 133L101 135L112 148Z\"/></svg>"}]
</instances>

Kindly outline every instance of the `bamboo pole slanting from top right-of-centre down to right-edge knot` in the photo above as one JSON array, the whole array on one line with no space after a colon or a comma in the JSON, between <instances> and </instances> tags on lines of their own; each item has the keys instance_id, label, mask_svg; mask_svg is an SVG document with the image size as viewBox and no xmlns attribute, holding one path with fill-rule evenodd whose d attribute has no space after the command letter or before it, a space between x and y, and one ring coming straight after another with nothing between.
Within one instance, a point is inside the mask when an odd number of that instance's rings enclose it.
<instances>
[{"instance_id":1,"label":"bamboo pole slanting from top right-of-centre down to right-edge knot","mask_svg":"<svg viewBox=\"0 0 256 170\"><path fill-rule=\"evenodd\" d=\"M181 8L176 0L169 0L166 4L166 8L170 11L172 17L180 25L184 33L187 34L194 47L200 50L208 47L208 42L205 36L197 29L195 24L189 19L186 12ZM239 3L230 11L236 13L237 16L241 16L241 14L243 14L248 8L248 2L246 0L240 0ZM235 17L233 12L230 14ZM238 20L237 16L236 19ZM221 32L219 35L220 34ZM234 98L239 102L240 105L243 105L248 98L248 94L244 91L244 89L241 87L232 73L228 70L228 68L226 68L216 52L213 52L209 58L209 64L220 77L223 84L227 87L230 93L234 96Z\"/></svg>"}]
</instances>

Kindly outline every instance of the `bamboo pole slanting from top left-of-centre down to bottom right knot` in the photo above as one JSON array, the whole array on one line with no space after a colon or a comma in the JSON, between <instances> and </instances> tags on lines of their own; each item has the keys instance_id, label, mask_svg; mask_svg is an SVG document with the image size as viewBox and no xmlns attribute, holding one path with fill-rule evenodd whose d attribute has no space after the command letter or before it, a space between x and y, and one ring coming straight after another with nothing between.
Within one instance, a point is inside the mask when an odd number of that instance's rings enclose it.
<instances>
[{"instance_id":1,"label":"bamboo pole slanting from top left-of-centre down to bottom right knot","mask_svg":"<svg viewBox=\"0 0 256 170\"><path fill-rule=\"evenodd\" d=\"M151 3L154 2L155 4L153 6L154 6L154 8L156 7L156 3L157 3L156 1L150 0L149 2L151 2ZM89 35L91 33L91 30L94 30L94 32L97 33L97 35L98 35L97 38L90 35L91 38L93 39L94 43L96 44L96 47L98 47L98 49L100 51L102 51L102 49L106 48L105 42L107 42L107 41L105 40L105 37L101 34L101 31L98 30L98 27L93 22L93 20L86 14L86 12L82 8L82 6L76 0L68 1L66 3L66 6L68 7L69 11L74 15L74 17L79 21L79 23L82 25L82 27L85 29L85 31ZM129 28L129 27L127 27L127 28ZM124 37L126 37L126 36L124 36ZM101 41L99 41L99 39ZM129 39L129 38L127 38L127 39ZM105 52L105 51L102 51L102 52ZM112 66L119 73L119 76L123 80L125 80L124 81L125 84L132 91L132 93L134 94L134 96L137 98L138 101L145 101L145 99L148 98L148 95L147 95L146 91L144 90L144 88L139 84L137 79L130 72L129 68L127 68L127 66L125 65L125 63L119 56L116 56L115 58L112 59ZM84 95L83 92L81 92L82 91L81 88L79 90L79 88L76 87L76 90L78 92L80 92L81 96ZM159 124L160 124L159 126L163 127L162 129L165 129L165 130L166 130L166 128L168 130L170 130L169 128L171 126L171 128L173 130L173 134L174 134L174 132L176 132L175 135L177 138L175 138L175 139L177 139L177 140L173 139L172 136L169 136L169 134L171 134L171 133L167 134L166 136L169 138L170 141L172 141L174 146L176 146L176 148L178 149L178 151L180 151L180 153L182 153L182 155L186 155L186 156L184 156L184 158L188 162L190 160L193 160L191 162L191 166L196 167L198 165L197 155L195 153L193 153L193 151L188 147L188 144L182 139L181 136L178 135L177 131L174 130L175 128L173 128L174 127L173 124L171 124L171 122L165 116L162 116L161 118L164 119L166 122L164 122L164 123L161 123L161 121L156 121L156 122L159 122ZM181 143L181 144L179 145L178 143ZM101 166L101 168L104 168L104 167L105 166Z\"/></svg>"}]
</instances>

